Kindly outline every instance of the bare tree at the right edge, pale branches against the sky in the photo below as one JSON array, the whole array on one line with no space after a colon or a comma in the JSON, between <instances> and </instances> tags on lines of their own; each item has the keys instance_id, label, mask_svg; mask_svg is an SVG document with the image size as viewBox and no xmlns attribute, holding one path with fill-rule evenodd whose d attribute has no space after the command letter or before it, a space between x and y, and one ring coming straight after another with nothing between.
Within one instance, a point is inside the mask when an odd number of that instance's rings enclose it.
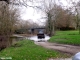
<instances>
[{"instance_id":1,"label":"bare tree at the right edge, pale branches against the sky","mask_svg":"<svg viewBox=\"0 0 80 60\"><path fill-rule=\"evenodd\" d=\"M67 0L66 0L67 1ZM71 0L69 1L72 6L70 6L69 8L71 8L71 10L73 11L73 14L75 14L75 22L76 22L76 29L79 29L79 34L80 34L80 2L79 0L77 1L74 1L74 0Z\"/></svg>"}]
</instances>

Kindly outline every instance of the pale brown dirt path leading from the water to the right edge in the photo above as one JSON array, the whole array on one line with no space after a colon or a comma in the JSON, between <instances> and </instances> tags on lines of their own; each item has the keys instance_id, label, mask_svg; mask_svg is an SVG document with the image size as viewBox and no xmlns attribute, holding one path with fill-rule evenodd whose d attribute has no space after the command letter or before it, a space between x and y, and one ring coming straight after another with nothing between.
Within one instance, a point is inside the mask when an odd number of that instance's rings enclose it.
<instances>
[{"instance_id":1,"label":"pale brown dirt path leading from the water to the right edge","mask_svg":"<svg viewBox=\"0 0 80 60\"><path fill-rule=\"evenodd\" d=\"M49 43L49 42L35 42L35 44L43 46L45 48L58 50L60 52L69 53L72 55L76 54L77 52L80 52L80 46Z\"/></svg>"}]
</instances>

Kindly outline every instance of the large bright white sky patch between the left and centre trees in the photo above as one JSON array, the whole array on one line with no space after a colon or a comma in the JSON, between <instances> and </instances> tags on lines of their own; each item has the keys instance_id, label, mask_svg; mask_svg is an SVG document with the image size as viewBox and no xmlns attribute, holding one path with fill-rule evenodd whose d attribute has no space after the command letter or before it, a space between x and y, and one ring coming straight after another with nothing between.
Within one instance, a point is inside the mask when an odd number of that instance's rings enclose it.
<instances>
[{"instance_id":1,"label":"large bright white sky patch between the left and centre trees","mask_svg":"<svg viewBox=\"0 0 80 60\"><path fill-rule=\"evenodd\" d=\"M45 13L41 10L36 10L32 7L22 7L21 9L21 19L22 20L31 20L32 22L36 22L41 24L45 23L45 19L42 19L42 17L45 17Z\"/></svg>"}]
</instances>

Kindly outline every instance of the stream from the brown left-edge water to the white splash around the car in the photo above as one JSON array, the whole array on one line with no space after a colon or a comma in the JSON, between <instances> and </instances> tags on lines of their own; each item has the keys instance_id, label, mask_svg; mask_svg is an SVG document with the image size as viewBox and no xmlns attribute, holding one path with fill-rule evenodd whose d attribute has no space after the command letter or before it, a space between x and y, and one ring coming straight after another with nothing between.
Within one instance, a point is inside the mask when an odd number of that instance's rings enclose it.
<instances>
[{"instance_id":1,"label":"stream from the brown left-edge water to the white splash around the car","mask_svg":"<svg viewBox=\"0 0 80 60\"><path fill-rule=\"evenodd\" d=\"M47 41L50 39L49 36L45 35L45 38L43 39L38 39L37 36L32 36L32 37L24 37L24 36L19 36L19 35L15 35L16 37L11 37L10 39L6 40L2 40L0 41L0 50L9 47L11 45L14 45L15 43L17 43L18 41L24 40L24 39L29 39L29 40L33 40L33 41Z\"/></svg>"}]
</instances>

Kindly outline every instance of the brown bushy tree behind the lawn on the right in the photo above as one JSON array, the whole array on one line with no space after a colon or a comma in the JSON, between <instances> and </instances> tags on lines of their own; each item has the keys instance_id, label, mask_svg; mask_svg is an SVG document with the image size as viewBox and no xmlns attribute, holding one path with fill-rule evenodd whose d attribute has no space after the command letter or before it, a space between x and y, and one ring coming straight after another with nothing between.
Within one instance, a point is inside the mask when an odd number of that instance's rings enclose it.
<instances>
[{"instance_id":1,"label":"brown bushy tree behind the lawn on the right","mask_svg":"<svg viewBox=\"0 0 80 60\"><path fill-rule=\"evenodd\" d=\"M69 9L63 9L60 6L57 6L57 19L56 27L58 29L63 28L64 30L75 29L75 15Z\"/></svg>"}]
</instances>

